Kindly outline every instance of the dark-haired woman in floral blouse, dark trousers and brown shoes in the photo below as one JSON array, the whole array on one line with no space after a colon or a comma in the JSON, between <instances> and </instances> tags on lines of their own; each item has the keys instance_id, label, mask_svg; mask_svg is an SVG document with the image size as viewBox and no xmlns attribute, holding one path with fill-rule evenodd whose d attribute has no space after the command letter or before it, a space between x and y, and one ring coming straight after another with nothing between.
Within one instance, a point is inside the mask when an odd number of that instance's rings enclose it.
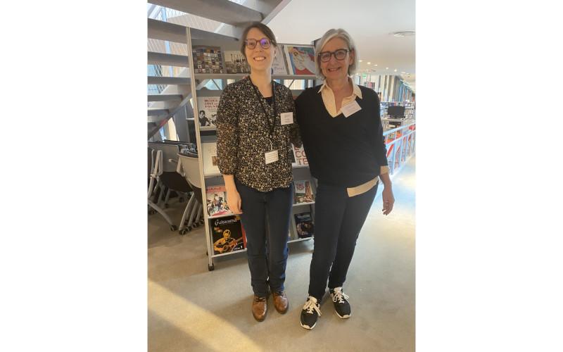
<instances>
[{"instance_id":1,"label":"dark-haired woman in floral blouse, dark trousers and brown shoes","mask_svg":"<svg viewBox=\"0 0 563 352\"><path fill-rule=\"evenodd\" d=\"M258 321L266 318L270 291L279 313L289 307L284 280L293 205L291 143L301 146L291 91L272 80L274 56L282 54L275 38L262 23L244 30L241 52L251 74L225 87L217 110L218 165L227 204L240 214L246 232Z\"/></svg>"}]
</instances>

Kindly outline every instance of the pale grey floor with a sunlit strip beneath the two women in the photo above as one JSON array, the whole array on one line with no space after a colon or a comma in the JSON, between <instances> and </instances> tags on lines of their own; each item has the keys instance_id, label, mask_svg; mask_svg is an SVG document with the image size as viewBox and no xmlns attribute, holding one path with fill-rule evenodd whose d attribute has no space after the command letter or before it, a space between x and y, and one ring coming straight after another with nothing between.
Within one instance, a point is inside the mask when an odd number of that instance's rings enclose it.
<instances>
[{"instance_id":1,"label":"pale grey floor with a sunlit strip beneath the two women","mask_svg":"<svg viewBox=\"0 0 563 352\"><path fill-rule=\"evenodd\" d=\"M251 314L245 253L217 258L209 272L203 230L179 236L160 215L148 222L148 349L157 351L414 351L415 158L393 178L396 206L381 215L381 190L360 233L344 291L353 315L340 319L330 299L317 326L305 330L312 241L290 244L288 313L264 322ZM167 213L181 218L182 204Z\"/></svg>"}]
</instances>

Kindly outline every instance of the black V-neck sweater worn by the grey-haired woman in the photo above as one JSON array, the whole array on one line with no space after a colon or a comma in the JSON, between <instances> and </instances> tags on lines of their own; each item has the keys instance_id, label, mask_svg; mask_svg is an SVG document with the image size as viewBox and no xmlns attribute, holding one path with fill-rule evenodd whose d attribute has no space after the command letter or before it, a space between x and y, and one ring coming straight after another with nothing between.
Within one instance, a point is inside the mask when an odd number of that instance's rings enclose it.
<instances>
[{"instance_id":1,"label":"black V-neck sweater worn by the grey-haired woman","mask_svg":"<svg viewBox=\"0 0 563 352\"><path fill-rule=\"evenodd\" d=\"M331 117L324 107L320 86L305 89L296 99L296 120L311 175L320 183L356 187L379 175L388 165L379 97L360 87L362 108L346 118Z\"/></svg>"}]
</instances>

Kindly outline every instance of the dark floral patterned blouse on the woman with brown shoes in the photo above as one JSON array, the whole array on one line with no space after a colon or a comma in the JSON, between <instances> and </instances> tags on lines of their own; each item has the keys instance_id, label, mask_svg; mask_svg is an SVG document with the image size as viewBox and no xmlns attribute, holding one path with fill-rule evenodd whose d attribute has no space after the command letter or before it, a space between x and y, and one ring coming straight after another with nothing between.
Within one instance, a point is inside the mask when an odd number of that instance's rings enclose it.
<instances>
[{"instance_id":1,"label":"dark floral patterned blouse on the woman with brown shoes","mask_svg":"<svg viewBox=\"0 0 563 352\"><path fill-rule=\"evenodd\" d=\"M265 99L246 77L225 87L217 108L219 170L263 192L289 187L291 143L301 146L291 90L274 82L272 92L275 99ZM289 112L293 123L281 125L280 114ZM278 151L279 160L266 164L265 153L272 149Z\"/></svg>"}]
</instances>

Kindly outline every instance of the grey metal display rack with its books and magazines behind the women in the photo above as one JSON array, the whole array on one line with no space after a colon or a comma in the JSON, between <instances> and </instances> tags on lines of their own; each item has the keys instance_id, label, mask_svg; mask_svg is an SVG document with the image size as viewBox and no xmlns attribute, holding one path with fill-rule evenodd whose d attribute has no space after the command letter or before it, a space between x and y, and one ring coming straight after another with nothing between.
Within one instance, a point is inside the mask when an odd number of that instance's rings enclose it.
<instances>
[{"instance_id":1,"label":"grey metal display rack with its books and magazines behind the women","mask_svg":"<svg viewBox=\"0 0 563 352\"><path fill-rule=\"evenodd\" d=\"M240 53L240 42L221 34L209 33L206 39L191 37L186 30L191 80L191 106L194 111L196 141L199 156L202 196L205 200L205 240L207 242L208 270L214 270L213 258L246 251L244 231L240 219L227 206L228 194L217 167L217 106L227 82L248 76L248 63ZM303 87L312 87L314 73L312 45L279 44L274 61L272 79L292 89L297 97ZM296 84L296 82L303 82ZM295 89L297 87L297 89ZM312 219L315 211L315 180L310 175L303 148L293 150L293 179L306 191L299 193L300 201L293 205L289 242L312 237ZM295 216L298 215L296 220ZM239 230L240 229L240 230ZM309 234L311 234L309 236Z\"/></svg>"}]
</instances>

